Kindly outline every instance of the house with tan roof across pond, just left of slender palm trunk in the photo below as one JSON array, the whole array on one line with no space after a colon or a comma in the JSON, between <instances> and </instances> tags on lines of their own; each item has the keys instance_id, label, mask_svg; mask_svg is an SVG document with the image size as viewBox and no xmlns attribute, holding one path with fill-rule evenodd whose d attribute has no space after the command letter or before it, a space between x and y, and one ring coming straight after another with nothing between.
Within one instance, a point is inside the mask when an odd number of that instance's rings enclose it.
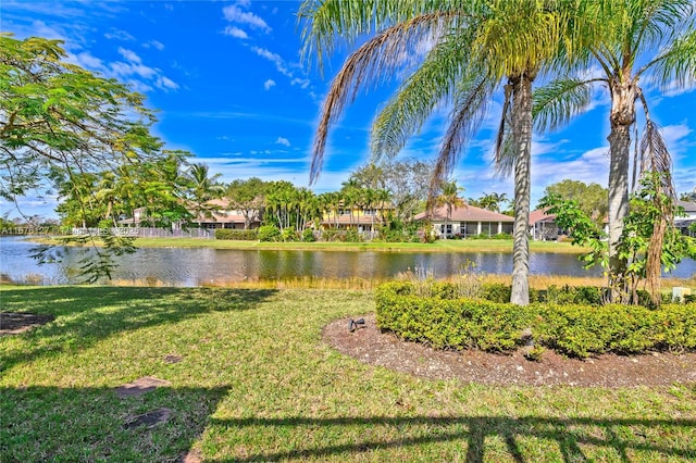
<instances>
[{"instance_id":1,"label":"house with tan roof across pond, just left of slender palm trunk","mask_svg":"<svg viewBox=\"0 0 696 463\"><path fill-rule=\"evenodd\" d=\"M421 212L415 216L415 221L419 222L427 220L427 212ZM435 234L442 238L512 234L512 224L514 223L514 218L509 215L473 205L452 208L449 217L447 216L446 205L436 208L433 210L430 221L433 224Z\"/></svg>"}]
</instances>

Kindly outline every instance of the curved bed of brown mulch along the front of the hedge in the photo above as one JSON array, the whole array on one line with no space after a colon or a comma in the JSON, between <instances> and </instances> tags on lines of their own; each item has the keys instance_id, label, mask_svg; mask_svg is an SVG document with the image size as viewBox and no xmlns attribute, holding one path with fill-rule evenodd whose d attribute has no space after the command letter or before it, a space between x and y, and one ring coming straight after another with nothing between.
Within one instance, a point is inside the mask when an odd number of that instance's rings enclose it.
<instances>
[{"instance_id":1,"label":"curved bed of brown mulch along the front of the hedge","mask_svg":"<svg viewBox=\"0 0 696 463\"><path fill-rule=\"evenodd\" d=\"M604 354L576 360L547 350L539 361L530 361L524 358L522 350L511 354L435 350L380 331L374 314L361 317L365 324L353 331L349 330L350 318L326 325L322 331L324 341L361 362L431 379L457 378L486 385L610 388L696 383L695 352Z\"/></svg>"}]
</instances>

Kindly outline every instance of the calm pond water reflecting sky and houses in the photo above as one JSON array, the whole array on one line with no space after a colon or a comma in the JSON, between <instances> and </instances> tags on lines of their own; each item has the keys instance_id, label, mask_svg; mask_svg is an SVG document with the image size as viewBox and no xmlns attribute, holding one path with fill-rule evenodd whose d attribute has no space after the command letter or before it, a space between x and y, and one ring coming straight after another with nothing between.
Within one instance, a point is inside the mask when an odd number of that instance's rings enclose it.
<instances>
[{"instance_id":1,"label":"calm pond water reflecting sky and houses","mask_svg":"<svg viewBox=\"0 0 696 463\"><path fill-rule=\"evenodd\" d=\"M79 249L62 249L62 263L38 265L36 245L18 237L0 238L0 273L13 280L55 285L78 283L75 266ZM456 275L468 262L487 274L509 274L512 254L502 252L344 252L269 251L233 249L140 248L120 259L114 279L145 283L156 279L172 286L201 286L246 279L364 278L384 279L409 270L427 270L436 278ZM535 275L599 276L599 267L584 270L575 254L533 253ZM685 260L669 274L687 278L696 262Z\"/></svg>"}]
</instances>

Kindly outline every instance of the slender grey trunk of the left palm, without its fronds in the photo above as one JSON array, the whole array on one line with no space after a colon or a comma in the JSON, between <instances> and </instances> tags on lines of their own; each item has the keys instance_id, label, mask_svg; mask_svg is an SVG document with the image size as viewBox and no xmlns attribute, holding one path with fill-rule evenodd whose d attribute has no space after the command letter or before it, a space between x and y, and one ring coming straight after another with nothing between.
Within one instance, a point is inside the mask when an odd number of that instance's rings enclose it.
<instances>
[{"instance_id":1,"label":"slender grey trunk of the left palm, without its fronds","mask_svg":"<svg viewBox=\"0 0 696 463\"><path fill-rule=\"evenodd\" d=\"M512 291L510 302L530 303L530 195L532 167L532 78L512 79L512 130L515 143Z\"/></svg>"}]
</instances>

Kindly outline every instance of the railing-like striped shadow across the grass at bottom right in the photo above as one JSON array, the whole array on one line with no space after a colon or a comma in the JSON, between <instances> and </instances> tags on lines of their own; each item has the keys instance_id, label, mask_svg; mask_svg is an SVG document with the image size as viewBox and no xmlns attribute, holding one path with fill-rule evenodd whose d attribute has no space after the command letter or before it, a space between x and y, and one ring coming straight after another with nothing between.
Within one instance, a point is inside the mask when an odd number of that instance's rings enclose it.
<instances>
[{"instance_id":1,"label":"railing-like striped shadow across the grass at bottom right","mask_svg":"<svg viewBox=\"0 0 696 463\"><path fill-rule=\"evenodd\" d=\"M355 428L368 428L375 435L380 431L389 436L391 430L398 429L399 438L374 438L296 449L281 452L258 452L244 458L215 459L216 462L251 462L251 461L285 461L306 459L350 459L371 451L388 451L390 449L432 447L434 443L458 442L465 447L465 454L459 455L463 461L483 462L490 460L486 456L486 438L499 438L505 442L507 456L515 462L533 462L539 458L546 461L595 461L596 455L586 454L587 448L601 453L601 459L612 461L633 461L631 452L649 452L651 459L683 460L696 459L696 420L596 420L596 418L547 418L536 416L506 417L506 416L374 416L345 418L309 418L294 416L287 418L247 418L247 420L212 420L211 426L220 427L252 427L257 433L275 433L285 436L293 431L299 435L314 430L336 436L340 429L346 431ZM669 431L667 430L669 428ZM328 430L331 429L331 430ZM666 439L669 433L674 434L672 440ZM679 437L681 433L681 437ZM649 436L659 436L655 443ZM684 437L686 436L686 438ZM689 439L688 436L692 438ZM530 454L521 441L537 439L552 441L556 454ZM544 451L544 450L542 450ZM371 454L378 459L378 454ZM371 456L371 458L372 458ZM642 460L643 461L643 460Z\"/></svg>"}]
</instances>

